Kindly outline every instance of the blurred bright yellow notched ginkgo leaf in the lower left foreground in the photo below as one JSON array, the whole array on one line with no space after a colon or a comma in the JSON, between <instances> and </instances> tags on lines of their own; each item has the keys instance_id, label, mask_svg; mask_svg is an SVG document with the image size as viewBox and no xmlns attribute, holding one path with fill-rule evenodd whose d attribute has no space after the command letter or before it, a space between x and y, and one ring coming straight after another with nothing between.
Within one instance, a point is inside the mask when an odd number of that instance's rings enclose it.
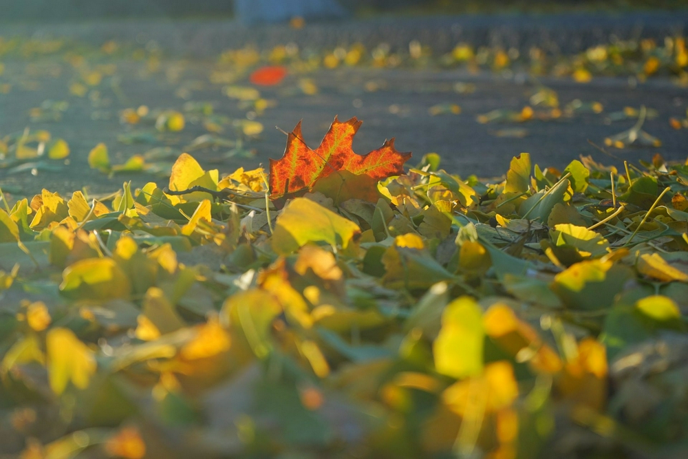
<instances>
[{"instance_id":1,"label":"blurred bright yellow notched ginkgo leaf in the lower left foreground","mask_svg":"<svg viewBox=\"0 0 688 459\"><path fill-rule=\"evenodd\" d=\"M79 341L72 330L53 328L47 332L47 371L50 387L55 394L62 394L71 382L78 389L88 387L96 372L94 353Z\"/></svg>"}]
</instances>

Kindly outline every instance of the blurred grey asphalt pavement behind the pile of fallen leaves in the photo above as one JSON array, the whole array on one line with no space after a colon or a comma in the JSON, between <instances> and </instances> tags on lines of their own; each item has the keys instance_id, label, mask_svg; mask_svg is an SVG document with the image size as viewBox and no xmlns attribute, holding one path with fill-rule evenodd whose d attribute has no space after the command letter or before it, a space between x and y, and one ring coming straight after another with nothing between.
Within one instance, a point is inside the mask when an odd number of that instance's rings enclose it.
<instances>
[{"instance_id":1,"label":"blurred grey asphalt pavement behind the pile of fallen leaves","mask_svg":"<svg viewBox=\"0 0 688 459\"><path fill-rule=\"evenodd\" d=\"M105 37L107 34L103 33ZM213 46L228 47L224 44ZM52 170L28 168L11 172L7 168L0 169L0 186L15 195L32 195L44 187L61 193L83 187L92 193L107 193L129 180L136 186L151 180L164 184L164 178L142 173L109 177L90 169L87 155L95 145L104 142L109 147L112 162L118 164L153 147L169 146L182 151L195 138L208 133L201 122L194 124L193 117L187 116L183 131L157 135L151 125L122 124L122 109L147 105L151 110L184 111L186 103L195 101L210 103L217 115L233 120L246 119L247 109L223 94L225 83L211 81L216 58L185 55L184 52L166 54L155 71L151 71L145 61L118 58L111 62L116 67L114 76L106 76L83 97L69 92L74 73L63 56L7 59L4 74L0 76L0 84L8 85L6 94L0 92L0 136L21 132L26 127L45 129L53 138L67 141L71 154L68 164L58 162ZM302 77L311 78L319 92L303 94L299 90ZM245 81L237 82L242 83L246 84ZM474 90L457 92L457 83L464 84L459 85L460 88L473 85ZM601 114L590 112L554 120L477 122L478 115L493 109L521 110L541 85L557 92L561 107L579 99L584 103L599 102L604 110ZM385 139L395 137L400 151L413 152L410 164L420 161L424 153L436 152L442 156L445 169L462 177L501 175L508 168L510 158L524 151L531 153L535 162L543 167L565 167L581 154L612 164L620 164L619 158L632 162L649 160L654 153L661 153L670 160L685 160L688 156L688 129L674 130L669 125L670 117L685 118L688 89L665 78L632 83L627 78L599 77L583 84L569 78L535 81L518 72L471 74L465 70L354 67L290 75L281 85L261 89L261 93L264 98L275 100L277 105L257 117L265 126L264 132L244 142L241 150L244 153L255 150L255 156L241 153L228 157L228 148L194 151L193 155L204 167L230 173L237 167L267 166L268 158L279 158L283 152L286 136L282 131L290 131L299 120L303 120L305 140L316 147L334 116L340 119L357 116L363 120L354 142L357 153L367 153L382 145ZM31 110L46 101L67 102L68 107L61 113L60 120L36 118L35 111L32 117ZM438 104L458 105L460 114L431 116L429 109ZM661 147L615 149L610 151L615 159L590 145L589 141L603 145L606 137L629 129L636 121L610 120L610 114L624 107L641 105L656 111L656 117L648 119L644 129L663 142ZM132 132L136 131L148 133L144 140L151 142L129 145L121 141L122 135L131 140ZM226 127L217 135L237 139L237 131L232 127Z\"/></svg>"}]
</instances>

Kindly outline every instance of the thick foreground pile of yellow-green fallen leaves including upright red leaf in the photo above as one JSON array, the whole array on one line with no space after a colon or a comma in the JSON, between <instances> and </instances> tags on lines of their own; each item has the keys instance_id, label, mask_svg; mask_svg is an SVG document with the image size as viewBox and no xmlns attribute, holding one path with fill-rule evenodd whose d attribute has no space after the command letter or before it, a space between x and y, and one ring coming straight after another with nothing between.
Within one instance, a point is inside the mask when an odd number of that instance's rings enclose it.
<instances>
[{"instance_id":1,"label":"thick foreground pile of yellow-green fallen leaves including upright red leaf","mask_svg":"<svg viewBox=\"0 0 688 459\"><path fill-rule=\"evenodd\" d=\"M3 198L0 453L683 457L688 166L484 183L356 156L359 125L270 171Z\"/></svg>"}]
</instances>

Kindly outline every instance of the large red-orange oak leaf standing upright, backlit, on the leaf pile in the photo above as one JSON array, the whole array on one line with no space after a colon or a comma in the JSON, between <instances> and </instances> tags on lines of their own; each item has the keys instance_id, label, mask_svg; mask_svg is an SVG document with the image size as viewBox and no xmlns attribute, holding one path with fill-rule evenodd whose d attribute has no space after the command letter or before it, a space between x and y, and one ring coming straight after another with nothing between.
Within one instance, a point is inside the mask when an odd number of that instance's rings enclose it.
<instances>
[{"instance_id":1,"label":"large red-orange oak leaf standing upright, backlit, on the leaf pile","mask_svg":"<svg viewBox=\"0 0 688 459\"><path fill-rule=\"evenodd\" d=\"M294 196L316 189L336 202L351 198L375 201L377 182L404 173L411 153L399 153L394 138L365 156L352 150L361 121L355 117L340 122L334 118L320 146L312 150L301 137L301 122L287 137L279 160L270 160L270 199Z\"/></svg>"}]
</instances>

